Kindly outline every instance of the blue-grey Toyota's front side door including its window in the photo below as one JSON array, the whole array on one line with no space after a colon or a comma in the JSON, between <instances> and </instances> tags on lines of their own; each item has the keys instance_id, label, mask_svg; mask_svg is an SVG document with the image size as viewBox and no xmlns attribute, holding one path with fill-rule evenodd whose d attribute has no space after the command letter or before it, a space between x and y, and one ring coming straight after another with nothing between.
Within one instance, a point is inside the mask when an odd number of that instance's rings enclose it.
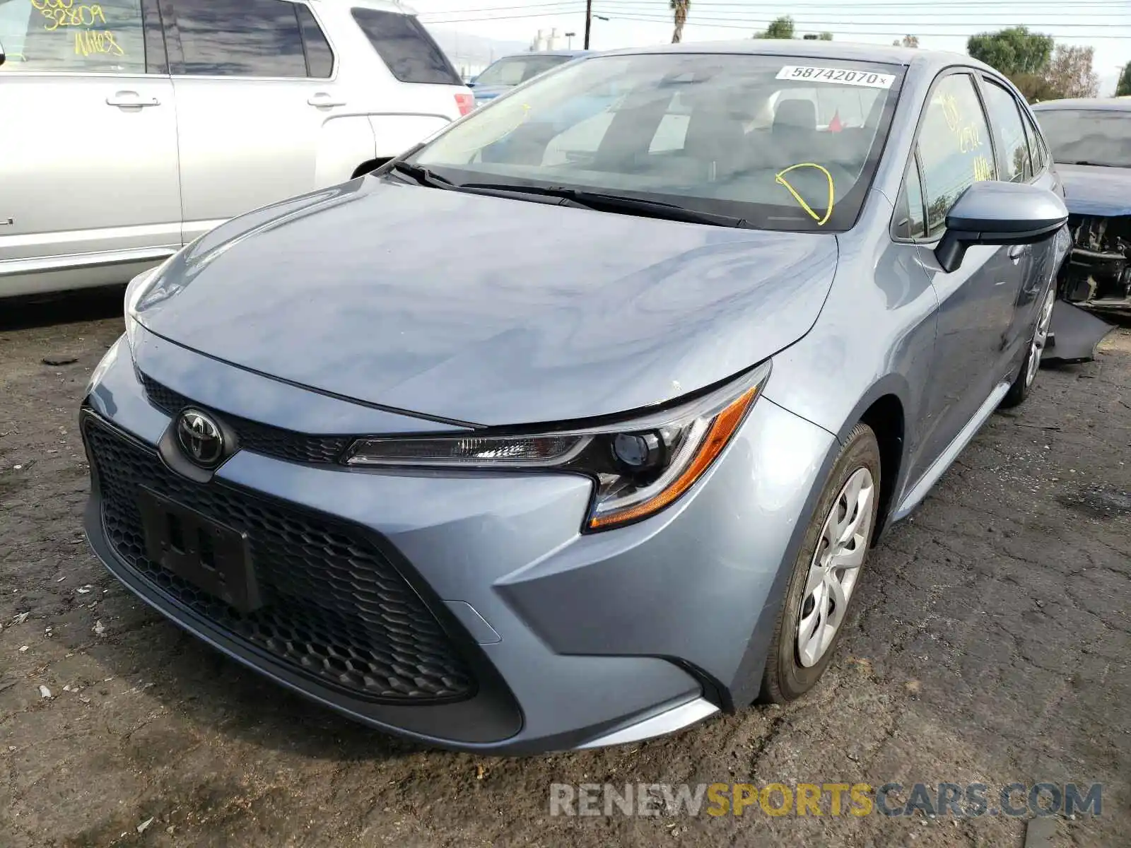
<instances>
[{"instance_id":1,"label":"blue-grey Toyota's front side door including its window","mask_svg":"<svg viewBox=\"0 0 1131 848\"><path fill-rule=\"evenodd\" d=\"M939 457L1004 379L1013 351L1010 327L1021 285L1022 248L975 245L947 272L934 249L947 213L976 180L998 175L993 136L974 77L936 80L918 128L916 157L925 234L920 257L939 298L931 384L924 397L923 453Z\"/></svg>"}]
</instances>

